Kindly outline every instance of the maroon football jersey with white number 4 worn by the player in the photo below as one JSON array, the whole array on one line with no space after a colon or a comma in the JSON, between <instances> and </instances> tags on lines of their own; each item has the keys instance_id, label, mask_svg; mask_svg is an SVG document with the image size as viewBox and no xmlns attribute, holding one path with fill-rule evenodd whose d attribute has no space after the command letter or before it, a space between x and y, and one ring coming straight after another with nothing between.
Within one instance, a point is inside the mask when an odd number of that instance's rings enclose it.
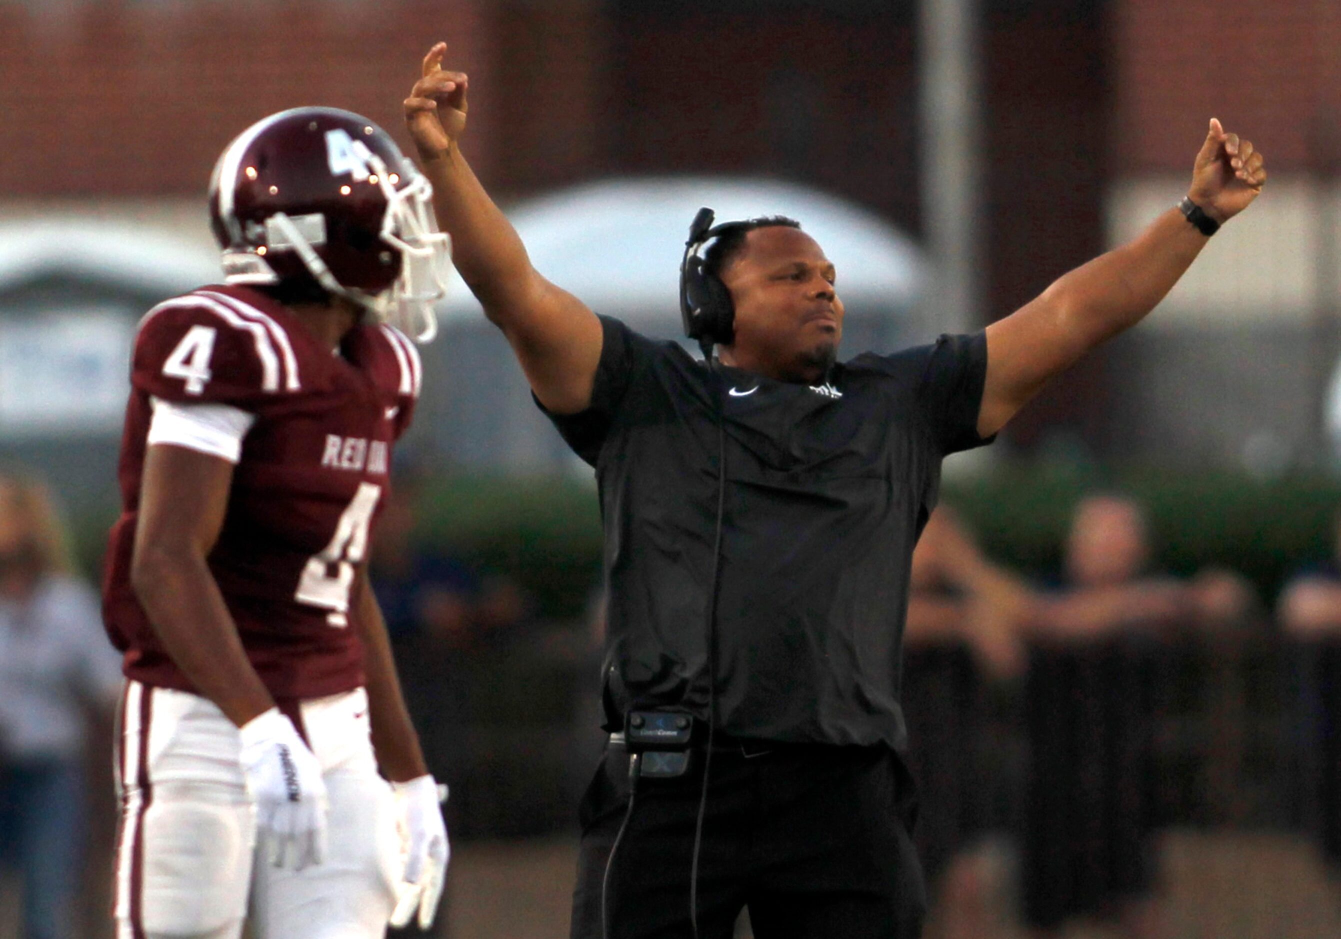
<instances>
[{"instance_id":1,"label":"maroon football jersey with white number 4 worn by the player","mask_svg":"<svg viewBox=\"0 0 1341 939\"><path fill-rule=\"evenodd\" d=\"M202 287L145 315L121 443L123 511L103 584L103 616L129 677L193 691L130 586L152 400L255 416L209 569L270 692L318 698L363 680L350 590L420 380L418 353L390 326L359 325L333 354L255 290Z\"/></svg>"}]
</instances>

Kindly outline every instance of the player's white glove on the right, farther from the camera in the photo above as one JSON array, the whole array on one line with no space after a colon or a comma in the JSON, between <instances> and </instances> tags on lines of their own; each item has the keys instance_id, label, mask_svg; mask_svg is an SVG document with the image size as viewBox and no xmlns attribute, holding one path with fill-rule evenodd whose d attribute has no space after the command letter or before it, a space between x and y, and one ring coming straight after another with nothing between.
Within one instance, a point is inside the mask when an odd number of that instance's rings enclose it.
<instances>
[{"instance_id":1,"label":"player's white glove on the right, farther from the camera","mask_svg":"<svg viewBox=\"0 0 1341 939\"><path fill-rule=\"evenodd\" d=\"M426 930L437 912L447 861L452 856L440 805L447 798L447 786L439 786L430 775L421 775L409 782L393 782L392 789L396 790L401 837L406 848L405 873L397 888L392 926L401 928L418 909L418 926Z\"/></svg>"}]
</instances>

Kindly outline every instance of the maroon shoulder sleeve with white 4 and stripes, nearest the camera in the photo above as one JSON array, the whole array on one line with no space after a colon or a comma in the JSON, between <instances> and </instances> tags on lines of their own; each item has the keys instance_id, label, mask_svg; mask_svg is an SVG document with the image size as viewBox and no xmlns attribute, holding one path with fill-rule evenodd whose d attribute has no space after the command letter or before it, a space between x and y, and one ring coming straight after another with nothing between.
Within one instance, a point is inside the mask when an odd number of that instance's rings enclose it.
<instances>
[{"instance_id":1,"label":"maroon shoulder sleeve with white 4 and stripes, nearest the camera","mask_svg":"<svg viewBox=\"0 0 1341 939\"><path fill-rule=\"evenodd\" d=\"M268 397L294 390L298 370L274 323L188 295L161 303L141 322L130 381L161 401L255 412Z\"/></svg>"}]
</instances>

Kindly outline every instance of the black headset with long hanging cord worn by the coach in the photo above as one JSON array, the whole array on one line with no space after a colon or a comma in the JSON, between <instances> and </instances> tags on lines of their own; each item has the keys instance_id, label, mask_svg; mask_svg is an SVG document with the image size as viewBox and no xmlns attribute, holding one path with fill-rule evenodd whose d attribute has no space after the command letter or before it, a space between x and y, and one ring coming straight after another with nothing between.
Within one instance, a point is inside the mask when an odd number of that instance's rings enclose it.
<instances>
[{"instance_id":1,"label":"black headset with long hanging cord worn by the coach","mask_svg":"<svg viewBox=\"0 0 1341 939\"><path fill-rule=\"evenodd\" d=\"M715 213L709 208L699 209L689 225L689 240L684 243L684 258L680 262L680 317L684 321L684 333L691 339L699 341L703 350L703 361L708 372L715 377L712 397L715 401L713 413L717 419L717 522L712 538L712 578L707 614L704 622L705 643L708 651L708 740L707 753L703 762L703 789L699 793L699 816L693 830L693 861L689 871L689 926L693 939L699 939L699 854L703 848L703 820L708 809L708 774L712 769L712 742L717 718L717 596L721 586L721 522L727 507L727 420L725 420L725 380L717 370L712 346L728 343L735 338L735 306L731 302L731 291L721 283L721 278L704 270L703 250L713 240L738 228L751 228L747 221L727 221L713 225ZM689 688L685 688L688 695ZM685 734L688 739L688 732ZM654 755L654 754L653 754ZM614 867L614 854L624 841L624 833L633 818L633 802L637 795L638 777L641 775L642 754L629 757L629 805L624 812L624 822L620 825L610 853L605 861L605 876L601 879L601 934L603 939L610 939L609 911L606 895L610 887L610 872Z\"/></svg>"}]
</instances>

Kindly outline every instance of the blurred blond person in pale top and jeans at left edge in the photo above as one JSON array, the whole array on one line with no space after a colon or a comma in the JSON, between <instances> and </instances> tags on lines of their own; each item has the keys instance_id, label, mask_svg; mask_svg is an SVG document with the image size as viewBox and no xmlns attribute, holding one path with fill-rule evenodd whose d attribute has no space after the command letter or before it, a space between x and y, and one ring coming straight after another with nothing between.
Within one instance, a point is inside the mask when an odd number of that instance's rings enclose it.
<instances>
[{"instance_id":1,"label":"blurred blond person in pale top and jeans at left edge","mask_svg":"<svg viewBox=\"0 0 1341 939\"><path fill-rule=\"evenodd\" d=\"M0 471L0 859L23 880L25 939L74 932L84 724L121 687L98 596L71 574L46 487Z\"/></svg>"}]
</instances>

